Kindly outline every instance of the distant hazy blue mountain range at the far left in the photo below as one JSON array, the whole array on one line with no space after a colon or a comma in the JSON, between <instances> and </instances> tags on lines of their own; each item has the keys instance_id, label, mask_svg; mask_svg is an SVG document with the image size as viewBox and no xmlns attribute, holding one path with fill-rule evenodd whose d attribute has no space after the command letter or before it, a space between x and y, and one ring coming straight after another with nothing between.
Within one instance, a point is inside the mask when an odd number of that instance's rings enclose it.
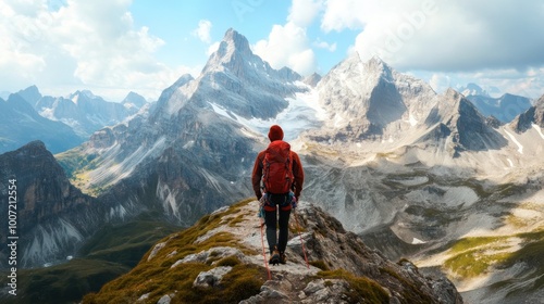
<instances>
[{"instance_id":1,"label":"distant hazy blue mountain range at the far left","mask_svg":"<svg viewBox=\"0 0 544 304\"><path fill-rule=\"evenodd\" d=\"M90 91L69 97L42 96L36 86L0 99L0 152L12 151L33 141L42 141L53 153L88 140L102 127L116 125L136 114L147 101L129 92L121 103L109 102Z\"/></svg>"}]
</instances>

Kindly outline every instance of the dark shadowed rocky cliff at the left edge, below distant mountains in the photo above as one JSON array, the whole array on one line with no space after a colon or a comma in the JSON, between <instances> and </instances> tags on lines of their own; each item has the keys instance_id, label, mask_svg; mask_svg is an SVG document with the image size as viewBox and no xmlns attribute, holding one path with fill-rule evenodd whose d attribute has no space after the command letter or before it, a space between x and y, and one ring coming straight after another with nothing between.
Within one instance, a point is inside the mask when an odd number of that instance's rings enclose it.
<instances>
[{"instance_id":1,"label":"dark shadowed rocky cliff at the left edge, below distant mountains","mask_svg":"<svg viewBox=\"0 0 544 304\"><path fill-rule=\"evenodd\" d=\"M104 205L72 186L53 155L40 141L0 155L0 176L15 180L18 267L41 266L65 259L107 214ZM8 185L0 186L1 205L8 205ZM8 208L0 210L8 218ZM7 229L0 232L2 243ZM1 263L7 248L0 249ZM2 268L8 265L1 264Z\"/></svg>"}]
</instances>

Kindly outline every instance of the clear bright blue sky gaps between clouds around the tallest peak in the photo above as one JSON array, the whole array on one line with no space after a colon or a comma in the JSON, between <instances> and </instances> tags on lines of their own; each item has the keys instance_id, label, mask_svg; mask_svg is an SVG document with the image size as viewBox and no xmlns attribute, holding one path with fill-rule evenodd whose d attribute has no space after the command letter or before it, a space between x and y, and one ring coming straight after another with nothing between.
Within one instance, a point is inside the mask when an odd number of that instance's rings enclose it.
<instances>
[{"instance_id":1,"label":"clear bright blue sky gaps between clouds around the tallest peak","mask_svg":"<svg viewBox=\"0 0 544 304\"><path fill-rule=\"evenodd\" d=\"M226 29L234 28L244 35L250 43L256 43L271 33L274 25L287 22L292 1L162 1L161 7L150 7L150 1L134 1L131 12L135 25L149 26L149 33L161 37L168 48L158 50L157 55L168 60L169 64L181 65L199 63L209 56L209 49L214 48L223 38ZM165 4L163 4L165 3ZM209 37L199 37L195 31L201 28ZM306 34L312 42L331 41L338 51L330 51L324 47L313 47L312 51L319 61L311 73L326 73L333 65L341 62L347 54L347 49L354 43L357 30L323 33L319 22L313 22L306 28ZM307 71L299 71L309 73Z\"/></svg>"}]
</instances>

